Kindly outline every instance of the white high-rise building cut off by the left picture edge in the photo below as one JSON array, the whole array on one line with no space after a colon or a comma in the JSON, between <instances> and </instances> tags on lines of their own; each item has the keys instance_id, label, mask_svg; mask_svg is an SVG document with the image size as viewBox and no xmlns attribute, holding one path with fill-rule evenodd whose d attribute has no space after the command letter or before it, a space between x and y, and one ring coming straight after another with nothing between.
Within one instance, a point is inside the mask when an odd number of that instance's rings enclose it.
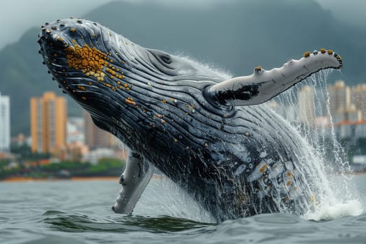
<instances>
[{"instance_id":1,"label":"white high-rise building cut off by the left picture edge","mask_svg":"<svg viewBox=\"0 0 366 244\"><path fill-rule=\"evenodd\" d=\"M10 151L10 98L0 93L0 152Z\"/></svg>"}]
</instances>

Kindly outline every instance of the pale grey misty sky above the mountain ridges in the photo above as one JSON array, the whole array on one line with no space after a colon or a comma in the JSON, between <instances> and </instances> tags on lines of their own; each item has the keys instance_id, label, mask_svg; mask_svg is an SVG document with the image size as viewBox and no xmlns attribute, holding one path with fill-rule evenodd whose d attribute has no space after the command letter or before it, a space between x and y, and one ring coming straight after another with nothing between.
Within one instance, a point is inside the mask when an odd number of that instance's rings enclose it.
<instances>
[{"instance_id":1,"label":"pale grey misty sky above the mountain ridges","mask_svg":"<svg viewBox=\"0 0 366 244\"><path fill-rule=\"evenodd\" d=\"M22 34L33 26L52 22L66 17L80 17L93 8L112 0L3 0L0 8L1 34L0 49L6 44L14 43ZM156 1L181 7L207 8L219 1L225 0L114 0L144 3ZM231 0L235 1L235 0ZM242 0L243 1L243 0ZM255 1L255 0L246 0ZM303 1L303 0L289 0ZM365 0L315 0L343 22L350 22L366 27ZM230 4L230 1L227 1ZM123 14L123 11L121 11Z\"/></svg>"}]
</instances>

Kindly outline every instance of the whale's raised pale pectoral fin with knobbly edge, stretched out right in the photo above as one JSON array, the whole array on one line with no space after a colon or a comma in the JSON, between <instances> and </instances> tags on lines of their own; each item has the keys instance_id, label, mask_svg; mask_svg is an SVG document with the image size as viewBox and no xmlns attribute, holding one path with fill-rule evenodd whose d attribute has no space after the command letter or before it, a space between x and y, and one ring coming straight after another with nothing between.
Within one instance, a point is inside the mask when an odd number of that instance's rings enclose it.
<instances>
[{"instance_id":1,"label":"whale's raised pale pectoral fin with knobbly edge, stretched out right","mask_svg":"<svg viewBox=\"0 0 366 244\"><path fill-rule=\"evenodd\" d=\"M257 67L252 75L234 77L210 86L204 91L204 96L218 105L258 105L319 70L341 67L342 58L331 50L305 52L302 59L290 60L281 68L264 70Z\"/></svg>"}]
</instances>

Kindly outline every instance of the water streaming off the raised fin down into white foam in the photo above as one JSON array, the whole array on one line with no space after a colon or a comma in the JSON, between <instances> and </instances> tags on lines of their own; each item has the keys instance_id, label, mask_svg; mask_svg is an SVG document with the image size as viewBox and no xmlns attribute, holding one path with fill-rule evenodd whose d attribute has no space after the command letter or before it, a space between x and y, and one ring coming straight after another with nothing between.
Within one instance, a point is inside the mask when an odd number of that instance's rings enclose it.
<instances>
[{"instance_id":1,"label":"water streaming off the raised fin down into white foam","mask_svg":"<svg viewBox=\"0 0 366 244\"><path fill-rule=\"evenodd\" d=\"M306 140L307 167L314 167L310 175L319 177L314 178L314 184L323 192L314 211L303 216L307 220L332 220L363 212L356 188L350 184L351 169L337 141L330 114L327 80L331 72L321 70L268 102Z\"/></svg>"}]
</instances>

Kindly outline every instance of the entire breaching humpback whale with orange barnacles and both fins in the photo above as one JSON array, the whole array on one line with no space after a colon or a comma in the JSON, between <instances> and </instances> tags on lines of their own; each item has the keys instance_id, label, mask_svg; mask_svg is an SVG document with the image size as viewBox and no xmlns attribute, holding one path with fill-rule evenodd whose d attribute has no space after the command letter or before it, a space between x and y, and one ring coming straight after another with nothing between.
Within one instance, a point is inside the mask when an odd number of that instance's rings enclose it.
<instances>
[{"instance_id":1,"label":"entire breaching humpback whale with orange barnacles and both fins","mask_svg":"<svg viewBox=\"0 0 366 244\"><path fill-rule=\"evenodd\" d=\"M129 148L116 213L132 213L154 167L218 222L317 206L305 142L262 103L319 70L341 68L335 52L305 52L281 68L229 78L89 20L46 23L38 43L63 93Z\"/></svg>"}]
</instances>

